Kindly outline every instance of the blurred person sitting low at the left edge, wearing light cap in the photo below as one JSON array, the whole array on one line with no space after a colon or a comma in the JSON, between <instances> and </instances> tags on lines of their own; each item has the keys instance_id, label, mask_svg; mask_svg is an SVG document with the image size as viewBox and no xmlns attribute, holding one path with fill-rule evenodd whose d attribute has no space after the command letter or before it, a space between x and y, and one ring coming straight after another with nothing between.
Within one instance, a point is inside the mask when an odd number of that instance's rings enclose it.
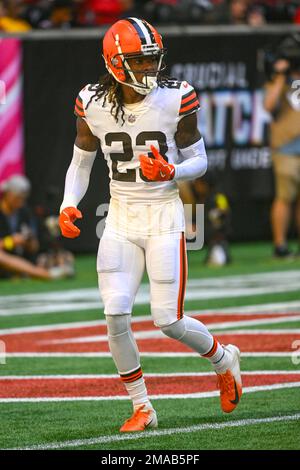
<instances>
[{"instance_id":1,"label":"blurred person sitting low at the left edge, wearing light cap","mask_svg":"<svg viewBox=\"0 0 300 470\"><path fill-rule=\"evenodd\" d=\"M36 220L26 206L30 183L15 175L0 185L0 278L27 275L38 279L66 277L64 267L37 264L39 241Z\"/></svg>"}]
</instances>

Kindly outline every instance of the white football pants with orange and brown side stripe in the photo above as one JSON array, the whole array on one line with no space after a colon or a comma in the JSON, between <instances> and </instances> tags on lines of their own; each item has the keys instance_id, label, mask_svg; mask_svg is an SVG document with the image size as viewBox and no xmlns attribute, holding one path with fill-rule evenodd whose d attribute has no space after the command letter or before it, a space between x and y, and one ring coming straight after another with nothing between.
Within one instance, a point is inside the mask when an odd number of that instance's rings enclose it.
<instances>
[{"instance_id":1,"label":"white football pants with orange and brown side stripe","mask_svg":"<svg viewBox=\"0 0 300 470\"><path fill-rule=\"evenodd\" d=\"M123 236L105 228L97 271L106 315L130 314L145 266L150 282L151 314L164 327L183 317L187 279L184 233Z\"/></svg>"}]
</instances>

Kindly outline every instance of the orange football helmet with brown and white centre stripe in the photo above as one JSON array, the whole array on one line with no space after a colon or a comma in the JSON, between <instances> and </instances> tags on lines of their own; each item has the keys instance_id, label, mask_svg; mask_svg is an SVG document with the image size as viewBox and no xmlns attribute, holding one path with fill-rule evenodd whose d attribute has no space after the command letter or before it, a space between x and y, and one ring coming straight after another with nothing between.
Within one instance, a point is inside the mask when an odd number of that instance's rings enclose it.
<instances>
[{"instance_id":1,"label":"orange football helmet with brown and white centre stripe","mask_svg":"<svg viewBox=\"0 0 300 470\"><path fill-rule=\"evenodd\" d=\"M106 32L103 39L103 58L109 73L114 78L135 89L142 95L147 95L157 86L157 76L165 68L163 57L166 49L163 47L160 34L147 21L138 18L125 18L117 21ZM130 68L127 59L141 56L157 57L155 72L137 71L144 77L138 82L134 70Z\"/></svg>"}]
</instances>

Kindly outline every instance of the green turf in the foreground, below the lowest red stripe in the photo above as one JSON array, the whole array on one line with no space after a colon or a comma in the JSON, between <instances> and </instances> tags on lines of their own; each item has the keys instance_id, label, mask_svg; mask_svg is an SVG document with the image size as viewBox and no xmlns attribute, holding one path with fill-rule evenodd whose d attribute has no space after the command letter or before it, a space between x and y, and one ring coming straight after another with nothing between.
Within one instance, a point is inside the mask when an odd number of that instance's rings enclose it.
<instances>
[{"instance_id":1,"label":"green turf in the foreground, below the lowest red stripe","mask_svg":"<svg viewBox=\"0 0 300 470\"><path fill-rule=\"evenodd\" d=\"M87 440L110 437L111 442L95 445L69 445L68 449L146 449L146 450L182 450L182 449L299 449L299 421L247 424L250 419L264 419L273 416L291 416L299 413L297 392L287 390L285 400L276 391L268 394L268 403L264 393L248 395L243 399L243 406L234 415L223 415L219 410L217 398L203 400L157 400L153 401L159 414L160 430L177 429L178 433L169 436L147 436L139 433L136 439L132 435L124 441L114 442L119 437L118 423L128 417L128 404L109 401L78 403L40 403L11 404L1 407L2 427L10 432L1 435L3 447L31 447L33 444L52 444L64 441ZM280 410L280 411L279 411ZM244 425L230 429L220 435L219 430L197 430L192 426L209 423L230 423L245 420ZM14 426L12 426L14 423ZM108 439L107 439L108 440Z\"/></svg>"}]
</instances>

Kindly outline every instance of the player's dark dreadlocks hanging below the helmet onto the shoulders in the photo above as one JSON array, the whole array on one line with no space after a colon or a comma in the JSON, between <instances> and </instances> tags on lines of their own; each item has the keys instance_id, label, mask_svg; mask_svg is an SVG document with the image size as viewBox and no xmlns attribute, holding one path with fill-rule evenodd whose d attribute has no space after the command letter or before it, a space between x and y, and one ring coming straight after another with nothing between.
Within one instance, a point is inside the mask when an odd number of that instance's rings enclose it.
<instances>
[{"instance_id":1,"label":"player's dark dreadlocks hanging below the helmet onto the shoulders","mask_svg":"<svg viewBox=\"0 0 300 470\"><path fill-rule=\"evenodd\" d=\"M158 74L157 85L159 87L168 87L170 81L177 80L176 78L171 78L166 75L162 76ZM125 113L121 84L117 80L115 80L115 78L110 73L107 73L106 75L102 75L100 77L99 82L96 83L96 85L91 85L89 90L94 91L95 93L89 99L89 102L86 105L86 109L89 107L93 99L95 99L95 101L99 101L101 98L104 97L102 107L104 108L107 102L112 103L112 107L110 110L111 115L115 118L115 121L118 123L119 114L121 113L123 126L123 124L125 124Z\"/></svg>"}]
</instances>

